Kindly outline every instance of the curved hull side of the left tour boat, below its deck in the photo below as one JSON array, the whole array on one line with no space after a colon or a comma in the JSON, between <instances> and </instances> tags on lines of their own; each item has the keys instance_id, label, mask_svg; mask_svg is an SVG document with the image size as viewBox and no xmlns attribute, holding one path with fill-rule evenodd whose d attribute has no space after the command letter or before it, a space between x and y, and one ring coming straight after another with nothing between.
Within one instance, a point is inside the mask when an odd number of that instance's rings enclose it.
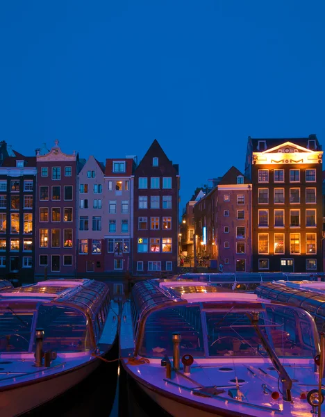
<instances>
[{"instance_id":1,"label":"curved hull side of the left tour boat, below its deck","mask_svg":"<svg viewBox=\"0 0 325 417\"><path fill-rule=\"evenodd\" d=\"M97 366L99 366L99 359L94 359L67 373L60 373L34 384L13 386L12 389L0 392L0 416L19 416L53 400L88 377Z\"/></svg>"}]
</instances>

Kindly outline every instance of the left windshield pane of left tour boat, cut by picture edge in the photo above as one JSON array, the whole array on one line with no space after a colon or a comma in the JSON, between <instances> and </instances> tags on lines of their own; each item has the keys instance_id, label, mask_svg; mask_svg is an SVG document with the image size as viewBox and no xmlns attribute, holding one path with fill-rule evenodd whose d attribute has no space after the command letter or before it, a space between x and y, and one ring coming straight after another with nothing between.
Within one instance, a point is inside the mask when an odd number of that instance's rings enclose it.
<instances>
[{"instance_id":1,"label":"left windshield pane of left tour boat, cut by picture edge","mask_svg":"<svg viewBox=\"0 0 325 417\"><path fill-rule=\"evenodd\" d=\"M12 306L12 311L0 309L0 352L28 352L34 313Z\"/></svg>"}]
</instances>

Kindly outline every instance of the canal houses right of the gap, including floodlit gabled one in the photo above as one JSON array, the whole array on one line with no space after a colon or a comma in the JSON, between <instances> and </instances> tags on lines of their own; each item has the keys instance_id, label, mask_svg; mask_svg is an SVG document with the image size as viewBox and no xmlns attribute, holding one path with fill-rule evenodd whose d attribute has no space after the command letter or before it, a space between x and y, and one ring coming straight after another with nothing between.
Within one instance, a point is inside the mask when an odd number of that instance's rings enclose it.
<instances>
[{"instance_id":1,"label":"canal houses right of the gap, including floodlit gabled one","mask_svg":"<svg viewBox=\"0 0 325 417\"><path fill-rule=\"evenodd\" d=\"M231 169L194 205L197 252L224 272L323 270L322 146L249 137Z\"/></svg>"}]
</instances>

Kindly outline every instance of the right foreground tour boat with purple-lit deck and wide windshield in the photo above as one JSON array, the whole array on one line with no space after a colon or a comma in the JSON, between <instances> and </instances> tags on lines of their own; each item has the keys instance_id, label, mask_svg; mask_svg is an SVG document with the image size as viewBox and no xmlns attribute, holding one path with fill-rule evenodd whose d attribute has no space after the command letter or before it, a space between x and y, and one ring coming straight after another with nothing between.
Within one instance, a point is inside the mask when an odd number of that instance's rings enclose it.
<instances>
[{"instance_id":1,"label":"right foreground tour boat with purple-lit deck and wide windshield","mask_svg":"<svg viewBox=\"0 0 325 417\"><path fill-rule=\"evenodd\" d=\"M323 349L308 311L200 281L150 280L135 284L122 315L122 366L172 416L317 413Z\"/></svg>"}]
</instances>

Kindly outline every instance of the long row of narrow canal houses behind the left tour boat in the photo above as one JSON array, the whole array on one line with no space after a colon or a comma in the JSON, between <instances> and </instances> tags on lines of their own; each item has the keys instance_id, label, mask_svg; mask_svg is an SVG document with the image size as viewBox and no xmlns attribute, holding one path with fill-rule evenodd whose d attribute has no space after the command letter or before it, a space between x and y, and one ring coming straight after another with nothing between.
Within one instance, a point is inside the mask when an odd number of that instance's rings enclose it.
<instances>
[{"instance_id":1,"label":"long row of narrow canal houses behind the left tour boat","mask_svg":"<svg viewBox=\"0 0 325 417\"><path fill-rule=\"evenodd\" d=\"M178 165L157 140L140 163L86 161L58 140L26 157L1 142L0 277L172 274L178 190Z\"/></svg>"}]
</instances>

